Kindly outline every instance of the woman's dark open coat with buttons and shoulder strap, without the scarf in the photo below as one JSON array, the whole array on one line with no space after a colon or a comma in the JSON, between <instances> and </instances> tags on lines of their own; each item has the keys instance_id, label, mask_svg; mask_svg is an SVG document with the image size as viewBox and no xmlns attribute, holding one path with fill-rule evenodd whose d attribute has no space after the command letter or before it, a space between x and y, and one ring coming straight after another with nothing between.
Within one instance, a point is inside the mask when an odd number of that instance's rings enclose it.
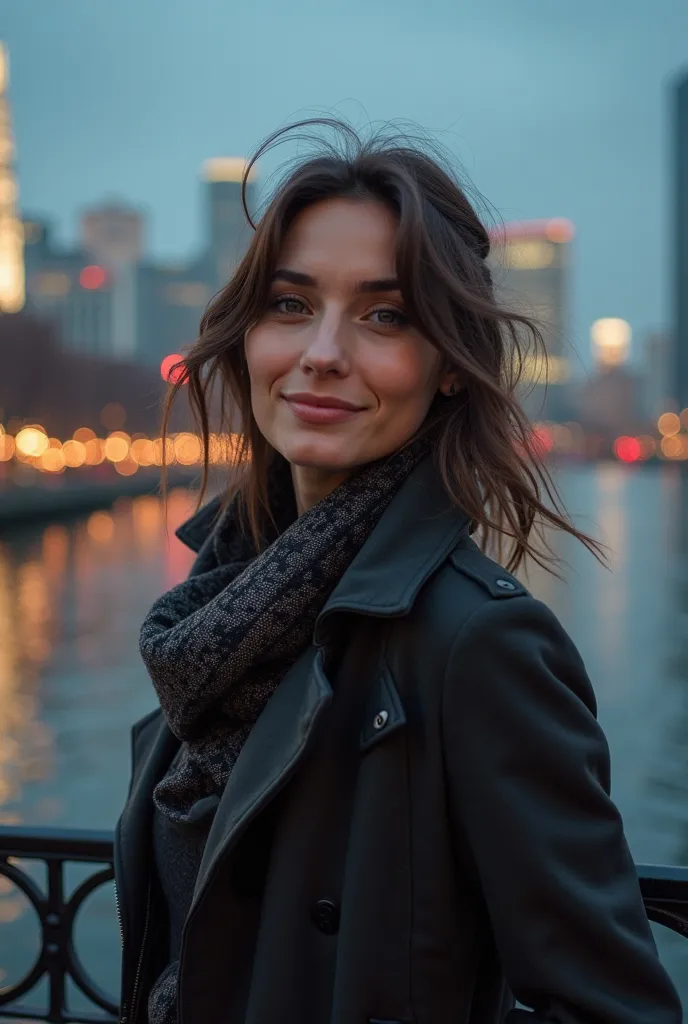
<instances>
[{"instance_id":1,"label":"woman's dark open coat with buttons and shoulder strap, without the scarf","mask_svg":"<svg viewBox=\"0 0 688 1024\"><path fill-rule=\"evenodd\" d=\"M179 531L195 550L216 510ZM595 714L573 643L478 550L426 460L229 778L180 1024L678 1024ZM116 841L127 1024L166 963L152 794L177 746L160 711L134 728Z\"/></svg>"}]
</instances>

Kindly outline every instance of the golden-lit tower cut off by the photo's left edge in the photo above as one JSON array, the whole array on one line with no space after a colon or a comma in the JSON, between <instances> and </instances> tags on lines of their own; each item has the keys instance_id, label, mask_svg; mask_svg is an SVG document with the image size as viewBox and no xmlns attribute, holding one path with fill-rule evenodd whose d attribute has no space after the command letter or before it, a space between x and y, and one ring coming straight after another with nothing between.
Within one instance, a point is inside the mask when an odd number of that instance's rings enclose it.
<instances>
[{"instance_id":1,"label":"golden-lit tower cut off by the photo's left edge","mask_svg":"<svg viewBox=\"0 0 688 1024\"><path fill-rule=\"evenodd\" d=\"M24 227L16 212L8 91L9 57L0 43L0 312L13 313L25 300Z\"/></svg>"}]
</instances>

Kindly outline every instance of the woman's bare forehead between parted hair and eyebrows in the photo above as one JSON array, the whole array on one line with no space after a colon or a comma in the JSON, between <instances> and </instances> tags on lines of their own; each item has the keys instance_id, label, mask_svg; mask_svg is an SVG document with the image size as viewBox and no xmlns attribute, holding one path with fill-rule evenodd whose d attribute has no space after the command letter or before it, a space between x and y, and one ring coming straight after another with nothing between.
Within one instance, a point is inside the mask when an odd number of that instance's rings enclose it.
<instances>
[{"instance_id":1,"label":"woman's bare forehead between parted hair and eyebrows","mask_svg":"<svg viewBox=\"0 0 688 1024\"><path fill-rule=\"evenodd\" d=\"M280 266L351 282L393 276L396 218L374 200L324 200L294 220Z\"/></svg>"}]
</instances>

